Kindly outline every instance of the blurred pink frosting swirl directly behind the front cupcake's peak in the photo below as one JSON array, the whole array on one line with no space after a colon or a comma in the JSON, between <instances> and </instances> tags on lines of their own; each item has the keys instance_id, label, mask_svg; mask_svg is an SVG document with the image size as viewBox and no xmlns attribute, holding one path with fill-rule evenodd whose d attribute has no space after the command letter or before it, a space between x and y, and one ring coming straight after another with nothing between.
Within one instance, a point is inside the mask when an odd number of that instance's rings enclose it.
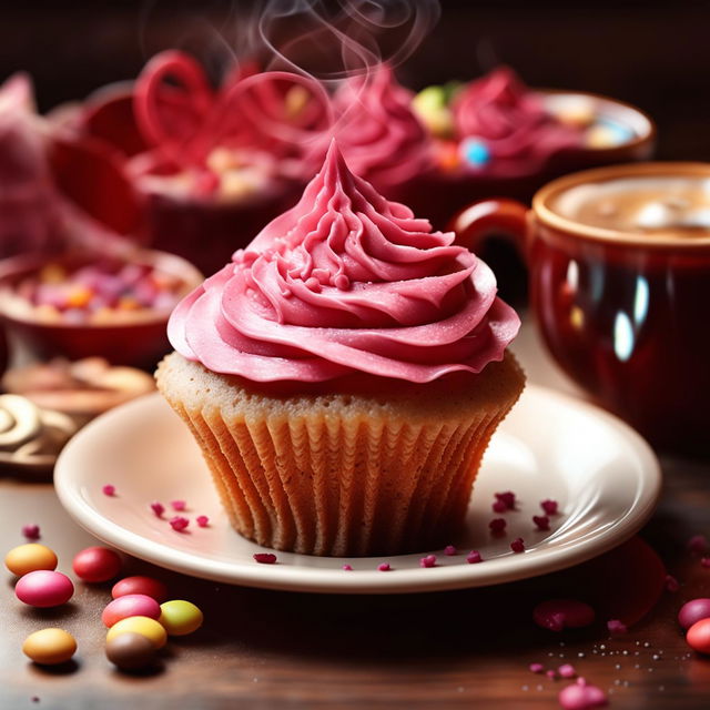
<instances>
[{"instance_id":1,"label":"blurred pink frosting swirl directly behind the front cupcake's peak","mask_svg":"<svg viewBox=\"0 0 710 710\"><path fill-rule=\"evenodd\" d=\"M351 170L384 191L429 169L430 136L412 110L413 95L387 64L347 79L333 97L335 124L318 160L332 135Z\"/></svg>"}]
</instances>

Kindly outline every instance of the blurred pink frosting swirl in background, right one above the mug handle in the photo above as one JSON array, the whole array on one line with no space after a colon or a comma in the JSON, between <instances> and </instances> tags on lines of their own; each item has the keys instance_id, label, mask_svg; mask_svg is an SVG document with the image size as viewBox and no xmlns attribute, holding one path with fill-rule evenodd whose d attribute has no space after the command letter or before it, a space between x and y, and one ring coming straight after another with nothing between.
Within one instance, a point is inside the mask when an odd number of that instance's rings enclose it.
<instances>
[{"instance_id":1,"label":"blurred pink frosting swirl in background, right one above the mug handle","mask_svg":"<svg viewBox=\"0 0 710 710\"><path fill-rule=\"evenodd\" d=\"M457 136L483 140L491 171L537 170L552 153L580 144L579 131L548 113L507 67L468 84L452 108Z\"/></svg>"}]
</instances>

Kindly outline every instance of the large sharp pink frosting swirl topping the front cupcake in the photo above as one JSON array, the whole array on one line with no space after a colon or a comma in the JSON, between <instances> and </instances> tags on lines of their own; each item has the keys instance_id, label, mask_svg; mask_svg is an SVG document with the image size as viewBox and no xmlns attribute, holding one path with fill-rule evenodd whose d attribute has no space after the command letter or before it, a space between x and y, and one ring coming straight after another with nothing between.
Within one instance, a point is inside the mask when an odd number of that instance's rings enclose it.
<instances>
[{"instance_id":1,"label":"large sharp pink frosting swirl topping the front cupcake","mask_svg":"<svg viewBox=\"0 0 710 710\"><path fill-rule=\"evenodd\" d=\"M454 237L353 175L333 142L301 202L175 308L170 341L254 382L478 373L519 320Z\"/></svg>"}]
</instances>

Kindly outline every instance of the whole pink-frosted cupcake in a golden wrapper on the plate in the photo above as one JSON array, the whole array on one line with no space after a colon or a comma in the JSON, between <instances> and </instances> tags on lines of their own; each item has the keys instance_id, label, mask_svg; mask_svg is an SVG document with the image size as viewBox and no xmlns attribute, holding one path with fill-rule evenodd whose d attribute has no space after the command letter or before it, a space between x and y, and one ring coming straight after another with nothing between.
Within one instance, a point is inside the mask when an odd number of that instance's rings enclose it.
<instances>
[{"instance_id":1,"label":"whole pink-frosted cupcake in a golden wrapper on the plate","mask_svg":"<svg viewBox=\"0 0 710 710\"><path fill-rule=\"evenodd\" d=\"M173 312L158 387L237 532L303 554L435 548L524 375L519 320L453 233L335 143L292 210Z\"/></svg>"}]
</instances>

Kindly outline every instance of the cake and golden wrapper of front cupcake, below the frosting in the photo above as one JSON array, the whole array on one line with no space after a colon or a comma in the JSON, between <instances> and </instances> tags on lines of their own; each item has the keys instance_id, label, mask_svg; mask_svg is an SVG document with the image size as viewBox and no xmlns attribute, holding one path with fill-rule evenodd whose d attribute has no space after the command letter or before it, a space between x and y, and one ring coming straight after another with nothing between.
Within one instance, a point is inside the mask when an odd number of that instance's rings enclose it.
<instances>
[{"instance_id":1,"label":"cake and golden wrapper of front cupcake, below the frosting","mask_svg":"<svg viewBox=\"0 0 710 710\"><path fill-rule=\"evenodd\" d=\"M523 390L483 373L277 396L173 353L158 386L190 426L237 532L327 556L434 549L463 524L483 454Z\"/></svg>"}]
</instances>

